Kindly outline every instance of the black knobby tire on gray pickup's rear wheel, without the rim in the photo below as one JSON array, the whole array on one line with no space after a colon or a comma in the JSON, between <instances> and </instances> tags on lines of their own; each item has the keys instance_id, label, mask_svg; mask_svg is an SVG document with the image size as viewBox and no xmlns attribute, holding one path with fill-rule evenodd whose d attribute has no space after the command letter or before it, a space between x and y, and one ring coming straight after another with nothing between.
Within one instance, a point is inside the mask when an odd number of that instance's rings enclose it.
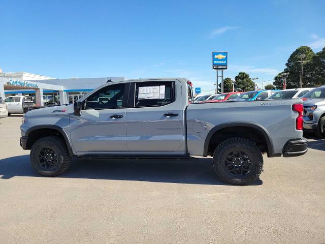
<instances>
[{"instance_id":1,"label":"black knobby tire on gray pickup's rear wheel, without the rim","mask_svg":"<svg viewBox=\"0 0 325 244\"><path fill-rule=\"evenodd\" d=\"M229 163L225 161L225 157L229 156L232 150L243 150L250 157L251 166L246 175L232 175L226 168L225 164L229 165ZM228 184L244 186L252 184L259 178L263 169L263 157L261 151L251 141L233 137L222 141L216 147L213 153L212 165L220 180Z\"/></svg>"}]
</instances>

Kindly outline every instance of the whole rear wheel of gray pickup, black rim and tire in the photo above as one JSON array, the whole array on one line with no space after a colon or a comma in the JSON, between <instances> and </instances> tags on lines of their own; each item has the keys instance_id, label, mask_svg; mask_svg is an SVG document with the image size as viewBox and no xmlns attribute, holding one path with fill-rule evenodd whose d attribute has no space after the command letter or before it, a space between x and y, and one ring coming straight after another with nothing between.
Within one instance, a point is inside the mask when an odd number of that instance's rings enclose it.
<instances>
[{"instance_id":1,"label":"whole rear wheel of gray pickup, black rim and tire","mask_svg":"<svg viewBox=\"0 0 325 244\"><path fill-rule=\"evenodd\" d=\"M263 157L251 141L234 137L217 146L212 164L220 180L233 185L249 185L261 174Z\"/></svg>"}]
</instances>

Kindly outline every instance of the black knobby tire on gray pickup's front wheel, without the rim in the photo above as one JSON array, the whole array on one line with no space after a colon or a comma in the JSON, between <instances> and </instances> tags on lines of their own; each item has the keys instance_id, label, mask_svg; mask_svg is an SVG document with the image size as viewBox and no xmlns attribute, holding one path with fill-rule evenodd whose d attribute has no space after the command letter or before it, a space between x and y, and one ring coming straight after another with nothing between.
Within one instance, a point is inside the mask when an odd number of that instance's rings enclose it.
<instances>
[{"instance_id":1,"label":"black knobby tire on gray pickup's front wheel, without the rim","mask_svg":"<svg viewBox=\"0 0 325 244\"><path fill-rule=\"evenodd\" d=\"M52 169L44 169L39 160L40 150L43 148L51 148L55 151L57 163ZM41 175L52 177L60 175L68 170L72 158L69 155L66 142L57 136L47 136L37 140L30 150L30 162L32 167Z\"/></svg>"}]
</instances>

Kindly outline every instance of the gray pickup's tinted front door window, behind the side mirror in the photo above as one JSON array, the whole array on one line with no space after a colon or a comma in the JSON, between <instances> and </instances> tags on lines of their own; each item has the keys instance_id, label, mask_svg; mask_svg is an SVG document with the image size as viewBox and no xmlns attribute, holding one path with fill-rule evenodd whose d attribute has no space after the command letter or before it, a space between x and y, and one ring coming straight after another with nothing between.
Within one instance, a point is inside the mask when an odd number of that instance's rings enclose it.
<instances>
[{"instance_id":1,"label":"gray pickup's tinted front door window, behind the side mirror","mask_svg":"<svg viewBox=\"0 0 325 244\"><path fill-rule=\"evenodd\" d=\"M86 100L86 109L122 108L125 84L106 86Z\"/></svg>"}]
</instances>

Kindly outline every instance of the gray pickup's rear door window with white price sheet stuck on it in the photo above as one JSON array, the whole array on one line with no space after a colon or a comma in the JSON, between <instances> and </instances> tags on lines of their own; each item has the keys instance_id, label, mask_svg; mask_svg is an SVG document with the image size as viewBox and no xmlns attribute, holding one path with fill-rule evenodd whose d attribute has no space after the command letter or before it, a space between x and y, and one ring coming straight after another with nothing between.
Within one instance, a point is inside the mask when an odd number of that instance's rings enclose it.
<instances>
[{"instance_id":1,"label":"gray pickup's rear door window with white price sheet stuck on it","mask_svg":"<svg viewBox=\"0 0 325 244\"><path fill-rule=\"evenodd\" d=\"M135 107L163 106L173 102L173 82L139 82L136 86Z\"/></svg>"}]
</instances>

